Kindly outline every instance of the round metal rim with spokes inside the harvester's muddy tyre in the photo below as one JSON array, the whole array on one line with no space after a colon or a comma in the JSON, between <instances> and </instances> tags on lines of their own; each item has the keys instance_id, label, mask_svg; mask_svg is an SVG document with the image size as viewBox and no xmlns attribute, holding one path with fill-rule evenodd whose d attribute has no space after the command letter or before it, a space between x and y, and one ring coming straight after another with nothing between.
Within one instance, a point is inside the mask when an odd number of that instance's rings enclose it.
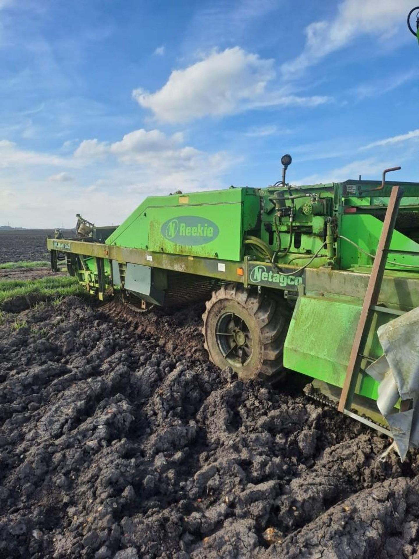
<instances>
[{"instance_id":1,"label":"round metal rim with spokes inside the harvester's muddy tyre","mask_svg":"<svg viewBox=\"0 0 419 559\"><path fill-rule=\"evenodd\" d=\"M234 367L245 367L253 352L253 340L245 320L234 312L226 312L217 321L215 335L226 361Z\"/></svg>"}]
</instances>

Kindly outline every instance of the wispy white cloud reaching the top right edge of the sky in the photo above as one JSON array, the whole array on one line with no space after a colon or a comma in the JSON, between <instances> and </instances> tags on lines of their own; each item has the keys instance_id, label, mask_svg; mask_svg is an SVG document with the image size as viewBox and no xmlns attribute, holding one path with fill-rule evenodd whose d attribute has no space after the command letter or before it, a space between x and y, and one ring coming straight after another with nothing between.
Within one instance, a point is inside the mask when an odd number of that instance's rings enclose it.
<instances>
[{"instance_id":1,"label":"wispy white cloud reaching the top right edge of the sky","mask_svg":"<svg viewBox=\"0 0 419 559\"><path fill-rule=\"evenodd\" d=\"M382 36L404 23L411 0L343 0L334 19L306 27L306 45L296 59L282 65L288 77L316 64L359 35Z\"/></svg>"}]
</instances>

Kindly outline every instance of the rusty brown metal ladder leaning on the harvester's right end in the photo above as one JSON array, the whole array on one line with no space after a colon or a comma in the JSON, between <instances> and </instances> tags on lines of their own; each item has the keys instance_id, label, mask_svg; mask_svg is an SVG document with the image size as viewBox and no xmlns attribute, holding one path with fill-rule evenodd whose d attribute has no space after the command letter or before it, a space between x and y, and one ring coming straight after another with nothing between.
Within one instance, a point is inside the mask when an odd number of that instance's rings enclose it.
<instances>
[{"instance_id":1,"label":"rusty brown metal ladder leaning on the harvester's right end","mask_svg":"<svg viewBox=\"0 0 419 559\"><path fill-rule=\"evenodd\" d=\"M359 316L358 328L356 328L354 344L351 349L349 363L346 369L346 376L344 385L342 386L339 406L337 408L341 413L358 419L362 423L365 423L366 425L369 425L374 429L379 429L383 433L390 436L391 432L388 429L378 426L373 421L361 417L360 415L357 415L350 410L354 397L356 380L358 379L358 375L360 372L361 361L363 361L363 359L373 361L373 359L361 353L361 347L365 342L365 331L369 326L369 320L371 318L371 311L387 312L394 315L404 314L404 311L387 309L386 307L377 305L388 254L394 253L419 255L419 253L410 250L392 250L389 248L392 240L394 226L396 224L402 194L403 191L399 186L393 186L387 206L387 211L385 212L383 229L380 235L380 240L378 242L377 253L375 254L371 275L368 281L368 287L366 288L365 298L361 309L361 314ZM410 405L410 401L402 401L400 411L406 411L406 409L408 409L408 405Z\"/></svg>"}]
</instances>

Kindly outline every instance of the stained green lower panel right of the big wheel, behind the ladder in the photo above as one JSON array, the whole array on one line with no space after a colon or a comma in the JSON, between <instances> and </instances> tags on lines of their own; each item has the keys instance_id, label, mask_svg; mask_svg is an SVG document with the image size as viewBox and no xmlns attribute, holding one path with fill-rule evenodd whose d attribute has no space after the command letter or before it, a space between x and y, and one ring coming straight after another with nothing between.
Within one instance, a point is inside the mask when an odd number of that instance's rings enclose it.
<instances>
[{"instance_id":1,"label":"stained green lower panel right of the big wheel, behind the ladder","mask_svg":"<svg viewBox=\"0 0 419 559\"><path fill-rule=\"evenodd\" d=\"M358 325L361 307L344 301L298 297L284 346L284 366L342 387ZM394 317L393 317L394 318ZM387 321L388 316L378 318ZM365 353L382 354L377 335L377 314L373 315ZM356 392L377 399L377 382L363 373Z\"/></svg>"}]
</instances>

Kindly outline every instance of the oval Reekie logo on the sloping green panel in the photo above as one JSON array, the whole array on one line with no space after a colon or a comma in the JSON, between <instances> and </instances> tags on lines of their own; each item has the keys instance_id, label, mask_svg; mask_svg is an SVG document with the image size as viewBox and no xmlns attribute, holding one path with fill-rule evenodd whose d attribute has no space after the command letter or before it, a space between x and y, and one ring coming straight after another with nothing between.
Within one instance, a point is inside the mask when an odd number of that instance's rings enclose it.
<instances>
[{"instance_id":1,"label":"oval Reekie logo on the sloping green panel","mask_svg":"<svg viewBox=\"0 0 419 559\"><path fill-rule=\"evenodd\" d=\"M174 217L161 226L161 234L165 239L188 246L211 243L219 232L213 221L196 215Z\"/></svg>"}]
</instances>

